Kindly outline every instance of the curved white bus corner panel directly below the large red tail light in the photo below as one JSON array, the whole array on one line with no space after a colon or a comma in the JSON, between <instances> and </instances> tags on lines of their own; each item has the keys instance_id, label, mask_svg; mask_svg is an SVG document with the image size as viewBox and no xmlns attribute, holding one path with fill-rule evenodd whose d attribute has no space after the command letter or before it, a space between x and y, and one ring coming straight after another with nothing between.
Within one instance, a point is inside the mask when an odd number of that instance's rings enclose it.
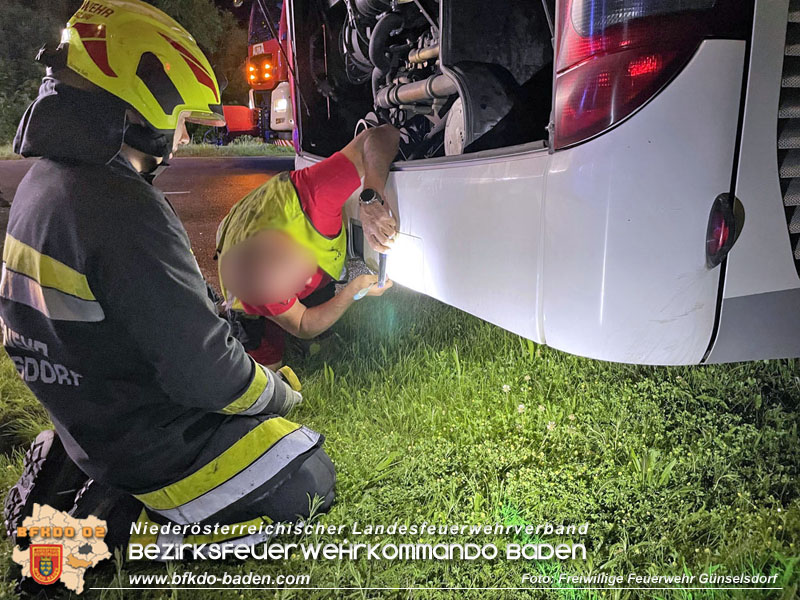
<instances>
[{"instance_id":1,"label":"curved white bus corner panel directly below the large red tail light","mask_svg":"<svg viewBox=\"0 0 800 600\"><path fill-rule=\"evenodd\" d=\"M730 189L745 43L709 40L618 127L555 152L547 176L544 330L604 360L699 362L720 268L706 267L714 199Z\"/></svg>"}]
</instances>

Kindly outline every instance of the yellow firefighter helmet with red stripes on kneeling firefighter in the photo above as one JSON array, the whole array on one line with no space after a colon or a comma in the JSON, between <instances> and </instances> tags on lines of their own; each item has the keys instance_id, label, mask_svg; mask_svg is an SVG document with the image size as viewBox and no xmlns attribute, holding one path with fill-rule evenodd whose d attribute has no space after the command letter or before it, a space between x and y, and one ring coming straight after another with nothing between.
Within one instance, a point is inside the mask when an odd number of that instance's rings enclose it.
<instances>
[{"instance_id":1,"label":"yellow firefighter helmet with red stripes on kneeling firefighter","mask_svg":"<svg viewBox=\"0 0 800 600\"><path fill-rule=\"evenodd\" d=\"M220 89L191 34L139 0L85 0L62 32L66 66L128 103L154 128L223 126Z\"/></svg>"}]
</instances>

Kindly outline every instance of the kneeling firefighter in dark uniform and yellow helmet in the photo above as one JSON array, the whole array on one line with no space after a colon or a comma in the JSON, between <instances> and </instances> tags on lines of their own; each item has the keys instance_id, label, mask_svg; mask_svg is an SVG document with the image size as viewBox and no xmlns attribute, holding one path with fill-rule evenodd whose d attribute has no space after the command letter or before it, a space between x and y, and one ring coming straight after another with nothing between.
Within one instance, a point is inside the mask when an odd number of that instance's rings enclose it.
<instances>
[{"instance_id":1,"label":"kneeling firefighter in dark uniform and yellow helmet","mask_svg":"<svg viewBox=\"0 0 800 600\"><path fill-rule=\"evenodd\" d=\"M302 397L231 337L151 185L186 122L224 124L208 60L138 0L84 3L40 60L14 141L40 158L11 208L0 317L67 454L158 522L294 520L313 496L326 509L323 436L283 418ZM41 463L11 504L29 500Z\"/></svg>"}]
</instances>

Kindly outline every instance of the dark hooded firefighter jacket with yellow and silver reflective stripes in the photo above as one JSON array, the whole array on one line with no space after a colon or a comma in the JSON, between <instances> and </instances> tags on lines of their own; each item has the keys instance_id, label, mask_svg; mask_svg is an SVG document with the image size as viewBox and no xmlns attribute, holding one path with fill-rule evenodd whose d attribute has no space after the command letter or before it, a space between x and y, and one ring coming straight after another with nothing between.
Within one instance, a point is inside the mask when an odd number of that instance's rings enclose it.
<instances>
[{"instance_id":1,"label":"dark hooded firefighter jacket with yellow and silver reflective stripes","mask_svg":"<svg viewBox=\"0 0 800 600\"><path fill-rule=\"evenodd\" d=\"M118 154L124 106L45 78L17 151L0 317L18 372L90 477L176 522L286 476L322 436L216 314L164 195Z\"/></svg>"}]
</instances>

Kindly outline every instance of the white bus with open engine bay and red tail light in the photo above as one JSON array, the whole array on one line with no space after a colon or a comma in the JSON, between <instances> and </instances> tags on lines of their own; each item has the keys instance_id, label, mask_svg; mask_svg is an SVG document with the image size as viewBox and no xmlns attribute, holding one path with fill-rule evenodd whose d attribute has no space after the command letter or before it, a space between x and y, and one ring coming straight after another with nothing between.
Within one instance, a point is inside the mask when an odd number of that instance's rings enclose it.
<instances>
[{"instance_id":1,"label":"white bus with open engine bay and red tail light","mask_svg":"<svg viewBox=\"0 0 800 600\"><path fill-rule=\"evenodd\" d=\"M603 360L800 356L800 0L290 0L290 32L298 167L407 133L398 283Z\"/></svg>"}]
</instances>

